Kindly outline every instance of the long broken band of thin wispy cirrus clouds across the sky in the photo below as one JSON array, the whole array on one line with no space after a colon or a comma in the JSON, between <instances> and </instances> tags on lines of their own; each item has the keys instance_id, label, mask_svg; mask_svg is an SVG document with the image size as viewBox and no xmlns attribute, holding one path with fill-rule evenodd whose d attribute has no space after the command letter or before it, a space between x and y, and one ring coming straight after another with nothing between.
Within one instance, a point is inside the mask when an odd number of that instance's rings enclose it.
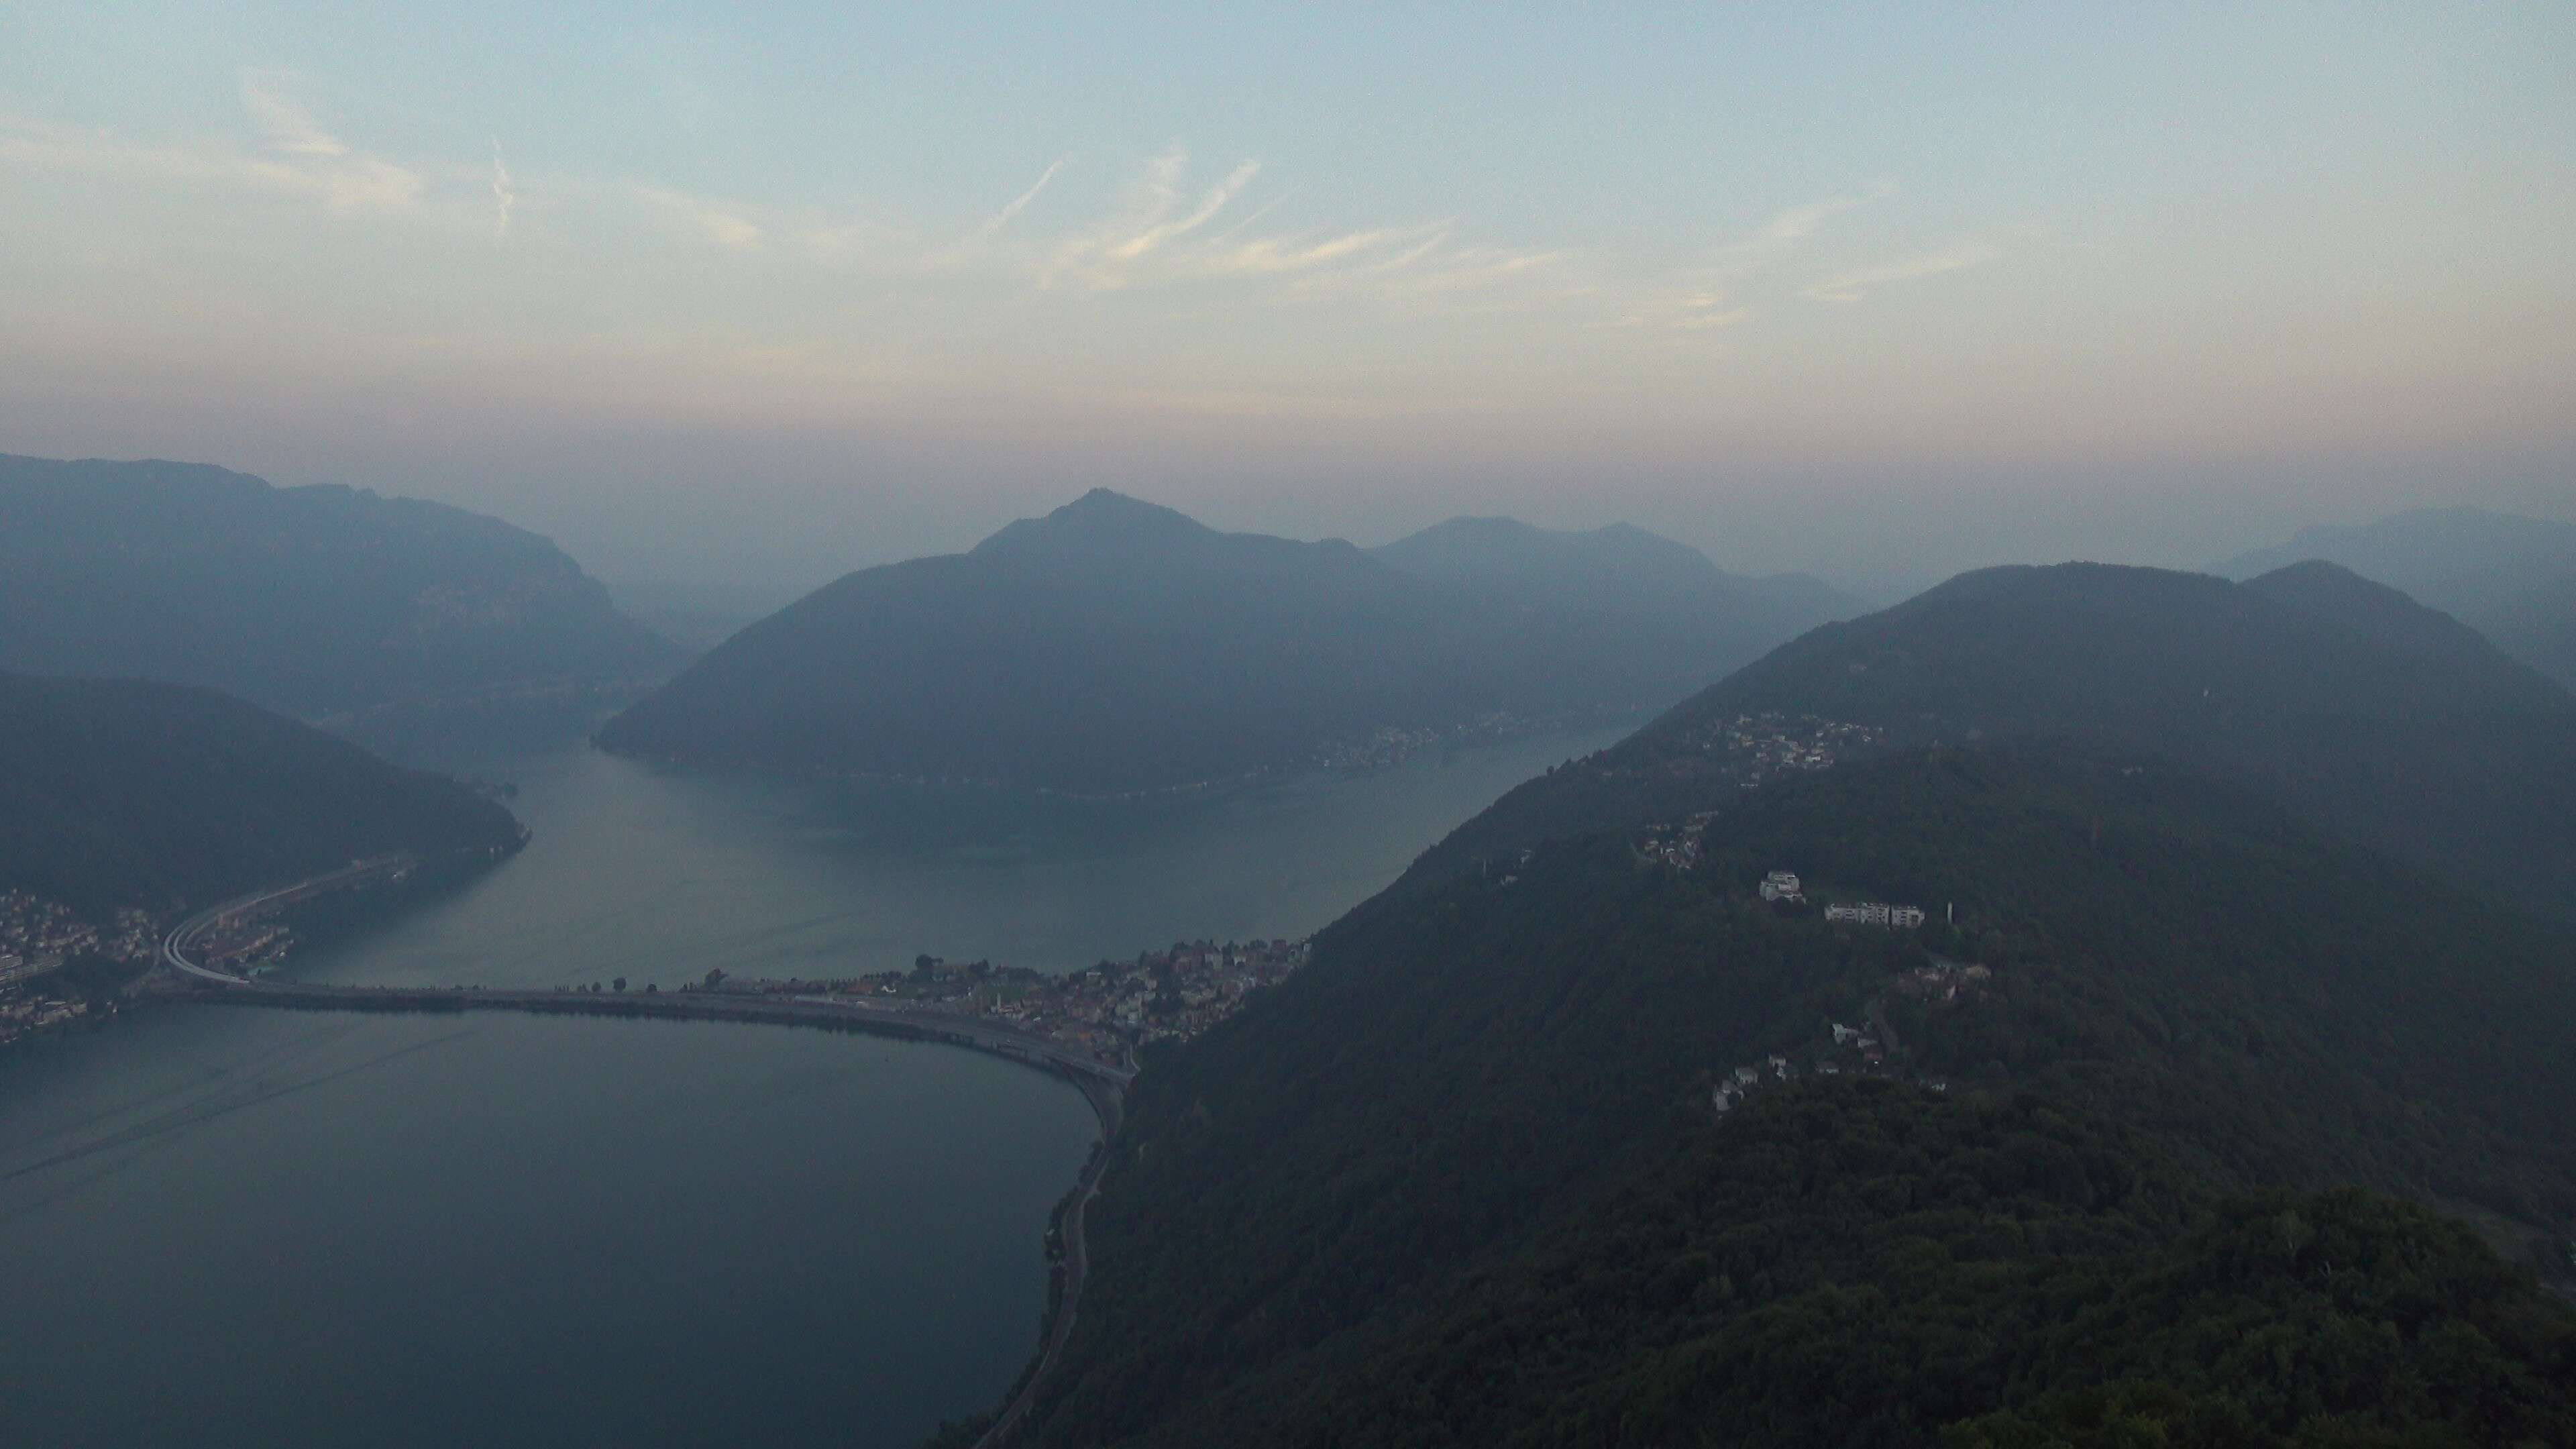
<instances>
[{"instance_id":1,"label":"long broken band of thin wispy cirrus clouds across the sky","mask_svg":"<svg viewBox=\"0 0 2576 1449\"><path fill-rule=\"evenodd\" d=\"M348 139L273 72L240 80L242 126L232 137L134 142L0 116L0 165L95 173L137 186L234 186L301 196L335 214L420 211L422 222L482 229L513 240L526 186L510 173L500 139L482 165L399 165ZM714 255L750 255L793 242L799 255L835 268L884 276L979 273L987 284L1051 291L1118 291L1154 286L1242 286L1288 299L1352 297L1440 309L1551 309L1571 327L1613 322L1677 335L1713 333L1752 317L1736 297L1757 273L1814 248L1832 224L1896 193L1893 183L1821 196L1772 211L1759 227L1703 250L1680 266L1597 250L1486 245L1461 219L1273 227L1270 217L1296 186L1262 199L1265 170L1239 160L1213 178L1195 178L1180 144L1144 157L1087 219L1030 229L1041 196L1069 186L1072 155L1046 162L999 209L963 237L930 242L938 227L899 217L848 222L716 199L659 186L652 178L559 178L546 188L556 209L608 204ZM1051 204L1054 211L1066 206ZM479 217L477 217L479 211ZM564 245L564 235L546 237ZM1978 266L1999 255L1986 242L1958 242L1917 258L1865 266L1793 289L1816 302L1860 302L1901 281Z\"/></svg>"}]
</instances>

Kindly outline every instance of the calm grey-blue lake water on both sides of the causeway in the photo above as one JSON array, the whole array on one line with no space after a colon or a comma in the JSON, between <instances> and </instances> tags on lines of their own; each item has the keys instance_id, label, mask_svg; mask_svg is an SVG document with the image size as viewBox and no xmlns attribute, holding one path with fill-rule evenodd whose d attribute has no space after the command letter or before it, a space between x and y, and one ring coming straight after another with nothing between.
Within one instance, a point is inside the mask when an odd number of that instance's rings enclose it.
<instances>
[{"instance_id":1,"label":"calm grey-blue lake water on both sides of the causeway","mask_svg":"<svg viewBox=\"0 0 2576 1449\"><path fill-rule=\"evenodd\" d=\"M484 761L533 843L291 972L1296 936L1610 737L1118 804ZM1095 1132L1025 1067L773 1026L162 1008L36 1042L0 1057L0 1439L909 1449L1025 1364Z\"/></svg>"}]
</instances>

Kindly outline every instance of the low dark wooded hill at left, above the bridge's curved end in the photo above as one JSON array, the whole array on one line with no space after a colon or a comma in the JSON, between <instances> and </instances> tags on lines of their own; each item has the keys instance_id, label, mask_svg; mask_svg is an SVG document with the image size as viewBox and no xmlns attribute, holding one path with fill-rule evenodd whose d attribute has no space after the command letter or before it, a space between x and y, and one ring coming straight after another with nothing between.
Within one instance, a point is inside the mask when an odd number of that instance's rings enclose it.
<instances>
[{"instance_id":1,"label":"low dark wooded hill at left, above the bridge's curved end","mask_svg":"<svg viewBox=\"0 0 2576 1449\"><path fill-rule=\"evenodd\" d=\"M93 920L518 841L507 810L456 781L211 688L0 676L0 890Z\"/></svg>"}]
</instances>

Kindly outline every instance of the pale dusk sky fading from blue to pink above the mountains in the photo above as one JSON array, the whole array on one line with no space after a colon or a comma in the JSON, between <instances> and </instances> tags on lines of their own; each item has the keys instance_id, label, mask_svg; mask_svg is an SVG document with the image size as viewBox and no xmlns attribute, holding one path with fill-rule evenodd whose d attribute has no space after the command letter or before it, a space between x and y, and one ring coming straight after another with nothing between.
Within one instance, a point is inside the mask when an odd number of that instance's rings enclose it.
<instances>
[{"instance_id":1,"label":"pale dusk sky fading from blue to pink above the mountains","mask_svg":"<svg viewBox=\"0 0 2576 1449\"><path fill-rule=\"evenodd\" d=\"M1883 593L2576 518L2576 8L0 10L0 451L793 596L1108 485Z\"/></svg>"}]
</instances>

